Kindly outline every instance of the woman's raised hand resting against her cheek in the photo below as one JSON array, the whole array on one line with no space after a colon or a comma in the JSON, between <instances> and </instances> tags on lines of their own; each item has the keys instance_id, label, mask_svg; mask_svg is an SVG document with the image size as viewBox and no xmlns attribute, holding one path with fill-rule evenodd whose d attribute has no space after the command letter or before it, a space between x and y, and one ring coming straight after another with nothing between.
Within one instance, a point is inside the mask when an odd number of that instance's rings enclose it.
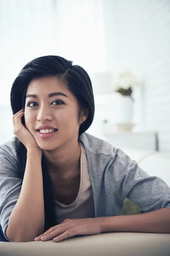
<instances>
[{"instance_id":1,"label":"woman's raised hand resting against her cheek","mask_svg":"<svg viewBox=\"0 0 170 256\"><path fill-rule=\"evenodd\" d=\"M12 121L14 125L14 135L25 145L27 150L28 148L31 148L31 149L38 148L40 150L40 147L38 146L32 134L22 124L21 118L23 116L24 116L24 111L23 109L21 109L12 117Z\"/></svg>"}]
</instances>

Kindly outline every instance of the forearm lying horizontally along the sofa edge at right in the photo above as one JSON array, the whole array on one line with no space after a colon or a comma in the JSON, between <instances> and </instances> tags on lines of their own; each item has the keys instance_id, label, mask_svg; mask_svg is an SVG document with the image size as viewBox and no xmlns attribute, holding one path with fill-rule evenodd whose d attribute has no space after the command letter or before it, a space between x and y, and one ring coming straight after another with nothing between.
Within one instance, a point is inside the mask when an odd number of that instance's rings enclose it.
<instances>
[{"instance_id":1,"label":"forearm lying horizontally along the sofa edge at right","mask_svg":"<svg viewBox=\"0 0 170 256\"><path fill-rule=\"evenodd\" d=\"M170 208L137 215L106 217L103 232L170 233Z\"/></svg>"}]
</instances>

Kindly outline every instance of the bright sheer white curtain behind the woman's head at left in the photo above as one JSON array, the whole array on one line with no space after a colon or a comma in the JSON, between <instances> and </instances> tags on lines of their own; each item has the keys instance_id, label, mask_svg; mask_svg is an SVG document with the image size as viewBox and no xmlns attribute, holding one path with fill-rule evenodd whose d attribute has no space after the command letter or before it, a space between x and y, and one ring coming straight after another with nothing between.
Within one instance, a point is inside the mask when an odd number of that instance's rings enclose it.
<instances>
[{"instance_id":1,"label":"bright sheer white curtain behind the woman's head at left","mask_svg":"<svg viewBox=\"0 0 170 256\"><path fill-rule=\"evenodd\" d=\"M103 0L0 0L0 144L13 137L10 90L21 68L60 55L105 71Z\"/></svg>"}]
</instances>

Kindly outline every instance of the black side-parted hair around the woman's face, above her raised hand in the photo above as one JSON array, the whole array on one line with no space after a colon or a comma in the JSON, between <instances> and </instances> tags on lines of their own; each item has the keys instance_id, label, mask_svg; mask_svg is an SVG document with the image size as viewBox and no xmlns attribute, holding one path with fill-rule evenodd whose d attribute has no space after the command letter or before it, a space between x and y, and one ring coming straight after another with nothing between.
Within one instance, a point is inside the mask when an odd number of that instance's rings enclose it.
<instances>
[{"instance_id":1,"label":"black side-parted hair around the woman's face, above her raised hand","mask_svg":"<svg viewBox=\"0 0 170 256\"><path fill-rule=\"evenodd\" d=\"M42 56L28 62L18 74L11 88L11 108L13 114L25 108L26 91L29 83L37 78L56 76L76 97L79 113L88 110L87 119L79 127L79 135L84 133L94 119L94 94L88 73L72 61L56 55ZM80 118L80 116L79 116Z\"/></svg>"}]
</instances>

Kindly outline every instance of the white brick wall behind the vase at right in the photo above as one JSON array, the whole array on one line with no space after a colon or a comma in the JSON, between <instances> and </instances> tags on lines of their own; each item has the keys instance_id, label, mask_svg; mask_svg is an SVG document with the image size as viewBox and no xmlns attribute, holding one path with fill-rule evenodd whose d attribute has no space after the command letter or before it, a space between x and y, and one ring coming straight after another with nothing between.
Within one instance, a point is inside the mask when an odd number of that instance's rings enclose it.
<instances>
[{"instance_id":1,"label":"white brick wall behind the vase at right","mask_svg":"<svg viewBox=\"0 0 170 256\"><path fill-rule=\"evenodd\" d=\"M108 70L142 78L140 128L170 151L170 0L105 0L105 24Z\"/></svg>"}]
</instances>

